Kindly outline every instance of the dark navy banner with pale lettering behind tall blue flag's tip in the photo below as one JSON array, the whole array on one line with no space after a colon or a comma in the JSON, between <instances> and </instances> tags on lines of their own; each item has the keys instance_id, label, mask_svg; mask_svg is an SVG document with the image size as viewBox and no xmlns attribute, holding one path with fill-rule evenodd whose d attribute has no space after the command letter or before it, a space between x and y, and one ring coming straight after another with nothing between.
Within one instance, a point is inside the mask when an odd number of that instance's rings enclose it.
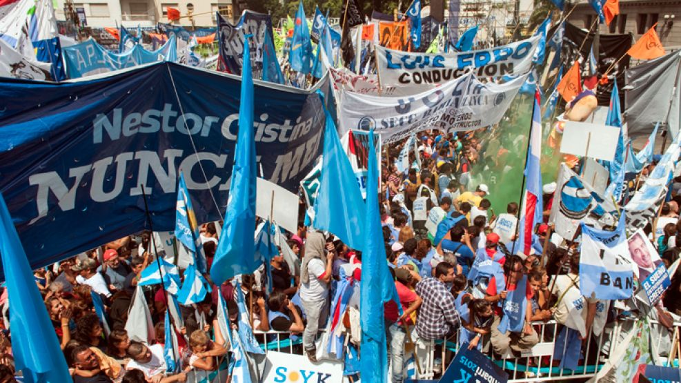
<instances>
[{"instance_id":1,"label":"dark navy banner with pale lettering behind tall blue flag's tip","mask_svg":"<svg viewBox=\"0 0 681 383\"><path fill-rule=\"evenodd\" d=\"M235 75L241 75L241 63L244 60L244 36L250 34L253 35L250 40L250 62L253 64L253 77L260 79L265 34L269 33L270 41L275 41L272 33L272 17L269 14L246 10L244 14L241 14L241 19L235 26L217 12L216 17L220 58L228 70Z\"/></svg>"}]
</instances>

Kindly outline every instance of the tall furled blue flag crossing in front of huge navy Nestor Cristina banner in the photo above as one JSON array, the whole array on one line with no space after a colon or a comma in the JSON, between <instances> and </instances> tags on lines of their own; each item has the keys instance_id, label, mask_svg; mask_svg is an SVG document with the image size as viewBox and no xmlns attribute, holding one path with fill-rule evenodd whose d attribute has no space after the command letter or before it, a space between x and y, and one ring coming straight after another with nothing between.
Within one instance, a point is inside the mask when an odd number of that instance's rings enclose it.
<instances>
[{"instance_id":1,"label":"tall furled blue flag crossing in front of huge navy Nestor Cristina banner","mask_svg":"<svg viewBox=\"0 0 681 383\"><path fill-rule=\"evenodd\" d=\"M246 35L250 39L252 35ZM253 137L253 73L249 44L244 44L241 67L239 133L234 154L232 182L224 228L217 244L210 278L215 286L238 274L250 274L260 266L255 255L255 138Z\"/></svg>"}]
</instances>

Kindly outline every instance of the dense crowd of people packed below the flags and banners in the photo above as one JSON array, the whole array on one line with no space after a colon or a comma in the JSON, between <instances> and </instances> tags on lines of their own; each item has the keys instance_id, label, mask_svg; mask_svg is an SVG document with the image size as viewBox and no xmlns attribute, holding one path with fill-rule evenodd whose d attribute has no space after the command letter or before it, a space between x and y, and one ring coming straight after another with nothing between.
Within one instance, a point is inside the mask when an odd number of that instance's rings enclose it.
<instances>
[{"instance_id":1,"label":"dense crowd of people packed below the flags and banners","mask_svg":"<svg viewBox=\"0 0 681 383\"><path fill-rule=\"evenodd\" d=\"M395 302L384 306L392 382L405 379L408 342L452 338L459 346L467 344L491 357L518 357L538 342L555 341L550 334L539 333L537 323L555 320L559 328L570 326L573 313L568 301L585 307L579 314L584 323L578 331L582 340L602 331L624 311L580 293L578 244L551 235L547 224L555 184L544 186L546 212L544 222L534 228L531 251L517 246L518 202L492 206L488 185L476 184L471 177L473 164L488 155L482 133L423 133L417 150L411 150L404 161L406 166L384 158L383 239L401 306ZM402 144L391 146L387 158L399 157ZM493 207L505 207L505 213L495 215ZM655 230L647 228L647 233L657 233L659 255L668 266L681 253L678 210L674 197L662 207ZM168 299L160 284L143 290L151 302L155 341L131 340L126 332L140 275L161 256L154 235L130 235L35 271L74 382L184 382L190 371L228 369L229 337L217 325L219 295L226 301L231 326L244 325L237 320L237 295L244 294L253 330L285 333L295 345L293 350L310 361L328 356L317 348L321 331L332 323L342 322L350 342L359 345L362 253L332 234L306 226L305 211L301 205L297 233L285 233L287 241L279 244L280 252L269 264L252 275L213 286L197 304L181 306L184 326L177 334L181 363L174 371L164 359ZM215 225L201 226L208 269L219 237ZM284 246L295 255L293 264L284 259ZM476 259L486 264L476 264ZM204 277L210 282L208 274ZM656 306L658 320L670 328L681 313L680 284L681 277L673 277L664 304ZM339 289L347 286L354 289L352 297L337 304ZM93 298L103 302L106 324L95 313ZM0 300L7 326L6 291ZM509 303L518 305L520 315L504 314ZM0 382L14 379L11 349L11 331L3 331ZM555 360L561 357L554 355ZM578 357L571 368L587 357Z\"/></svg>"}]
</instances>

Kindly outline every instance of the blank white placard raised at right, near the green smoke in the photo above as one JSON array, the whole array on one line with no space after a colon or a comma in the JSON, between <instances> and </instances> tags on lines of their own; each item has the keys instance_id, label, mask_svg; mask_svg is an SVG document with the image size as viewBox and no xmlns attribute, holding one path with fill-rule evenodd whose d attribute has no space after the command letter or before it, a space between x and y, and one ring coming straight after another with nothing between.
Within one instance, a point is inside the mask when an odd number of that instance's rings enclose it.
<instances>
[{"instance_id":1,"label":"blank white placard raised at right, near the green smoke","mask_svg":"<svg viewBox=\"0 0 681 383\"><path fill-rule=\"evenodd\" d=\"M620 128L614 126L567 121L560 153L612 161L619 138Z\"/></svg>"}]
</instances>

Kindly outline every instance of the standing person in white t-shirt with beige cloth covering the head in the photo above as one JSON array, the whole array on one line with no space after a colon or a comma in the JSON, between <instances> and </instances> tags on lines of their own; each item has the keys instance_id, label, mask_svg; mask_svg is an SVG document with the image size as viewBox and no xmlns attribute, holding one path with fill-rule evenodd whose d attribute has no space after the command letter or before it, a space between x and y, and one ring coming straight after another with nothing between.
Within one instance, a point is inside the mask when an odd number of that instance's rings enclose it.
<instances>
[{"instance_id":1,"label":"standing person in white t-shirt with beige cloth covering the head","mask_svg":"<svg viewBox=\"0 0 681 383\"><path fill-rule=\"evenodd\" d=\"M324 255L325 247L327 255ZM322 233L308 231L300 276L300 301L308 320L303 332L303 348L311 362L317 362L317 331L326 324L328 316L328 284L334 256L333 242L326 243Z\"/></svg>"}]
</instances>

